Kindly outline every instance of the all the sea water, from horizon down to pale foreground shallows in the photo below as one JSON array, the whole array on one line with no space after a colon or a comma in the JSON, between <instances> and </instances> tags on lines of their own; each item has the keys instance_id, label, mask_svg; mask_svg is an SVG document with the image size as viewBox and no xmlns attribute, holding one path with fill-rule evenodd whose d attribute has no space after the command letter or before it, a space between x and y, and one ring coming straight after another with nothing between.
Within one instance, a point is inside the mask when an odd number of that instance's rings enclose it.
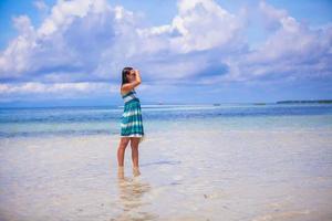
<instances>
[{"instance_id":1,"label":"all the sea water, from horizon down to pale foreground shallows","mask_svg":"<svg viewBox=\"0 0 332 221\"><path fill-rule=\"evenodd\" d=\"M332 105L142 105L138 177L122 112L1 108L0 220L332 220Z\"/></svg>"}]
</instances>

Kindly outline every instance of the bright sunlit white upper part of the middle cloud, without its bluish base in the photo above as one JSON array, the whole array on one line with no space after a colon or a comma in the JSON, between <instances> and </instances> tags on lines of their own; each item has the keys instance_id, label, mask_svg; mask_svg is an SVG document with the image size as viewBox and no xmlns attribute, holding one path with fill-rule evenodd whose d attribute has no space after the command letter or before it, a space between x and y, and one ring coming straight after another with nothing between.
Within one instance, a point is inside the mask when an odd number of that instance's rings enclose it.
<instances>
[{"instance_id":1,"label":"bright sunlit white upper part of the middle cloud, without its bluish base","mask_svg":"<svg viewBox=\"0 0 332 221\"><path fill-rule=\"evenodd\" d=\"M138 30L138 34L148 40L156 40L158 36L160 46L154 49L189 53L227 48L229 43L238 42L241 28L240 18L211 0L180 0L178 14L173 19L172 24Z\"/></svg>"}]
</instances>

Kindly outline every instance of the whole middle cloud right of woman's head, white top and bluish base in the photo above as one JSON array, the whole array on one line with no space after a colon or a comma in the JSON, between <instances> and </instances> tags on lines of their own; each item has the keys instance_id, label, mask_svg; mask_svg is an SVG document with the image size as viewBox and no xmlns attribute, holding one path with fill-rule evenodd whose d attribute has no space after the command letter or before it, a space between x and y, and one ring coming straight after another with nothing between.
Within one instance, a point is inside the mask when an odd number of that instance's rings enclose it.
<instances>
[{"instance_id":1,"label":"whole middle cloud right of woman's head, white top and bluish base","mask_svg":"<svg viewBox=\"0 0 332 221\"><path fill-rule=\"evenodd\" d=\"M177 3L170 24L137 30L144 60L141 66L154 80L199 76L229 54L246 50L242 17L236 17L211 0ZM224 70L215 70L224 74ZM201 82L203 83L203 82Z\"/></svg>"}]
</instances>

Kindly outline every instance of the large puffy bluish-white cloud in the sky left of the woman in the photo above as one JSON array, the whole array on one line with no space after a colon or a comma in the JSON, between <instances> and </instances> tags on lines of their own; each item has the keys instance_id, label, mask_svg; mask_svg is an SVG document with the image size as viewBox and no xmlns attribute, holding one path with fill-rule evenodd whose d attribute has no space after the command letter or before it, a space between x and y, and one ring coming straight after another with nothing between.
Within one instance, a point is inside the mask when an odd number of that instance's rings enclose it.
<instances>
[{"instance_id":1,"label":"large puffy bluish-white cloud in the sky left of the woman","mask_svg":"<svg viewBox=\"0 0 332 221\"><path fill-rule=\"evenodd\" d=\"M39 28L25 15L15 19L20 35L0 55L0 77L43 81L50 73L66 72L74 81L93 78L105 49L134 24L135 18L125 13L105 0L76 0L59 1Z\"/></svg>"}]
</instances>

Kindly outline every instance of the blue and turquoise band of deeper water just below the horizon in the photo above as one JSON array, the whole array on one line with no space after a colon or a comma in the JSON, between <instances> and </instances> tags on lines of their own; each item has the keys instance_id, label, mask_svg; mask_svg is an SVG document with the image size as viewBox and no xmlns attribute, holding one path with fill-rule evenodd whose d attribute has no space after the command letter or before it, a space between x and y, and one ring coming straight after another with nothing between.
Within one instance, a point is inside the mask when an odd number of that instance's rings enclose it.
<instances>
[{"instance_id":1,"label":"blue and turquoise band of deeper water just below the horizon","mask_svg":"<svg viewBox=\"0 0 332 221\"><path fill-rule=\"evenodd\" d=\"M173 127L226 130L332 127L332 105L326 104L142 105L142 108L147 135ZM122 106L0 108L0 138L118 135L122 112Z\"/></svg>"}]
</instances>

